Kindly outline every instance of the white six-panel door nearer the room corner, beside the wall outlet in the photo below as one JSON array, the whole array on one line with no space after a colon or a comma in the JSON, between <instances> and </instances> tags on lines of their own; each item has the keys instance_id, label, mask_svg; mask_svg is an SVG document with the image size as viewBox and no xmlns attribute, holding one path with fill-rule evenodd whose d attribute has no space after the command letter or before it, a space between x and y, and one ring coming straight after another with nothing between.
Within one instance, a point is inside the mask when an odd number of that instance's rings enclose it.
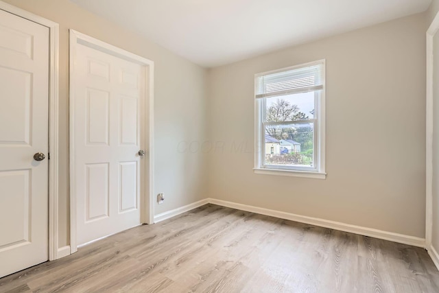
<instances>
[{"instance_id":1,"label":"white six-panel door nearer the room corner, beside the wall outlet","mask_svg":"<svg viewBox=\"0 0 439 293\"><path fill-rule=\"evenodd\" d=\"M86 45L73 53L78 245L141 224L145 67Z\"/></svg>"}]
</instances>

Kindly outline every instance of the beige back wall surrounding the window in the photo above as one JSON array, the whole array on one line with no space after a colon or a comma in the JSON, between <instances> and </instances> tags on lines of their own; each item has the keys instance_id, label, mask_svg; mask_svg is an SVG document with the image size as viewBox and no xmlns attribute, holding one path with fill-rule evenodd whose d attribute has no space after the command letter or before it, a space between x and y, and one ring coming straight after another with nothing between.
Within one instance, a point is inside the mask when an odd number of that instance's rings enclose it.
<instances>
[{"instance_id":1,"label":"beige back wall surrounding the window","mask_svg":"<svg viewBox=\"0 0 439 293\"><path fill-rule=\"evenodd\" d=\"M425 237L425 30L416 14L211 69L209 133L224 147L209 152L209 196ZM254 73L322 58L327 179L254 174Z\"/></svg>"}]
</instances>

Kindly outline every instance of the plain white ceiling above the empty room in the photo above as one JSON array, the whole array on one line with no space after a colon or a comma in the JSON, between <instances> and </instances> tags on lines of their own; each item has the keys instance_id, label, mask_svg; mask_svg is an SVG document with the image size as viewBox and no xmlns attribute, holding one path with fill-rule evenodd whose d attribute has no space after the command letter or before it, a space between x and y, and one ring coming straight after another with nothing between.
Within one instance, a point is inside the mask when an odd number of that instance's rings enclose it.
<instances>
[{"instance_id":1,"label":"plain white ceiling above the empty room","mask_svg":"<svg viewBox=\"0 0 439 293\"><path fill-rule=\"evenodd\" d=\"M71 0L203 67L427 10L431 0Z\"/></svg>"}]
</instances>

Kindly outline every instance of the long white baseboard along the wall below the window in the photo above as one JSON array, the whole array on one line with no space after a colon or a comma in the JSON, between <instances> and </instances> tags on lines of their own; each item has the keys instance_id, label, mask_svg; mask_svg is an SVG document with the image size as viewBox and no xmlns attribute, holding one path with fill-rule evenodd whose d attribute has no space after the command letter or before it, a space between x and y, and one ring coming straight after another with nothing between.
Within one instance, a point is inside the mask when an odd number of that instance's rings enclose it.
<instances>
[{"instance_id":1,"label":"long white baseboard along the wall below the window","mask_svg":"<svg viewBox=\"0 0 439 293\"><path fill-rule=\"evenodd\" d=\"M294 213L286 213L283 211L274 211L272 209L264 209L261 207L253 207L247 204L238 204L235 202L228 202L225 200L216 200L214 198L209 198L209 203L217 204L223 207L230 207L232 209L240 209L242 211L250 211L252 213L259 213L261 215L270 215L275 218L281 218L285 220L292 220L294 222L300 222L305 224L311 224L315 226L321 226L324 228L331 228L335 230L340 230L349 233L355 233L359 235L375 237L379 239L389 240L392 242L398 242L402 244L408 244L412 246L425 247L425 239L403 235L398 233L392 233L388 231L381 231L374 228L366 228L362 226L355 226L351 224L345 224L342 222L335 222L330 220L324 220L320 218L307 217L305 215L296 215Z\"/></svg>"}]
</instances>

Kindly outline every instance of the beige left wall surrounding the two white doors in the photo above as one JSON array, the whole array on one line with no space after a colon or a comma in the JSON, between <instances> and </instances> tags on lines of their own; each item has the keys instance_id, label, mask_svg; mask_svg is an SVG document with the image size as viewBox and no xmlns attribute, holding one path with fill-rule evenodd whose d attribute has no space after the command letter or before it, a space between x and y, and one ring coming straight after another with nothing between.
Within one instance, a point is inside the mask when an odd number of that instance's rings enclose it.
<instances>
[{"instance_id":1,"label":"beige left wall surrounding the two white doors","mask_svg":"<svg viewBox=\"0 0 439 293\"><path fill-rule=\"evenodd\" d=\"M69 244L69 32L70 28L154 61L155 194L165 203L155 213L206 196L206 154L178 151L180 141L206 137L206 70L163 47L123 30L67 0L6 0L60 24L60 246ZM155 196L155 195L154 195Z\"/></svg>"}]
</instances>

